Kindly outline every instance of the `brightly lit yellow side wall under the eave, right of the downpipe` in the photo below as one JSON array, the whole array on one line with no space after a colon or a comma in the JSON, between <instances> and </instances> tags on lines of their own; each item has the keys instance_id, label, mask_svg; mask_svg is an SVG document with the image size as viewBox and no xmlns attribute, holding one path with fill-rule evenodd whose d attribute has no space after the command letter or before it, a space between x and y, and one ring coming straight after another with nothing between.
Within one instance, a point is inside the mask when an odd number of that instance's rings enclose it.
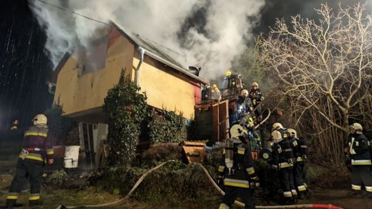
<instances>
[{"instance_id":1,"label":"brightly lit yellow side wall under the eave, right of the downpipe","mask_svg":"<svg viewBox=\"0 0 372 209\"><path fill-rule=\"evenodd\" d=\"M137 57L137 56L136 56ZM189 78L176 73L159 70L161 64L145 55L145 61L140 68L141 91L147 94L147 103L153 107L166 108L183 112L183 117L194 118L195 85ZM137 66L138 58L133 59L133 66ZM154 67L157 66L157 67Z\"/></svg>"}]
</instances>

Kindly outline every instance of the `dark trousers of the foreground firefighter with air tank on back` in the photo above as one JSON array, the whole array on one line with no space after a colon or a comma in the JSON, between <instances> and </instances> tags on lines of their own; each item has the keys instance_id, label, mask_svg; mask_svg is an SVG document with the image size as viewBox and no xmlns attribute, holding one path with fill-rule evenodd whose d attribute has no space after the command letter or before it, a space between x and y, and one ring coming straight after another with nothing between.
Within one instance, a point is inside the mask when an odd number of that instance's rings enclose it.
<instances>
[{"instance_id":1,"label":"dark trousers of the foreground firefighter with air tank on back","mask_svg":"<svg viewBox=\"0 0 372 209\"><path fill-rule=\"evenodd\" d=\"M229 209L237 197L243 201L245 204L245 209L256 208L254 203L253 189L225 186L225 195L222 199L219 209Z\"/></svg>"}]
</instances>

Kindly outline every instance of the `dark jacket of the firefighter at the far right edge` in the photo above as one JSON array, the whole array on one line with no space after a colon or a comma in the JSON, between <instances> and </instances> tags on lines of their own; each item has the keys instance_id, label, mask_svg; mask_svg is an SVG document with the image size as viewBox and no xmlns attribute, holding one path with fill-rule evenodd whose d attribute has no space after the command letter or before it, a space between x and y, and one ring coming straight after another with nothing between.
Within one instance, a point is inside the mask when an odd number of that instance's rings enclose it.
<instances>
[{"instance_id":1,"label":"dark jacket of the firefighter at the far right edge","mask_svg":"<svg viewBox=\"0 0 372 209\"><path fill-rule=\"evenodd\" d=\"M352 165L371 165L368 139L363 134L350 134L347 143Z\"/></svg>"}]
</instances>

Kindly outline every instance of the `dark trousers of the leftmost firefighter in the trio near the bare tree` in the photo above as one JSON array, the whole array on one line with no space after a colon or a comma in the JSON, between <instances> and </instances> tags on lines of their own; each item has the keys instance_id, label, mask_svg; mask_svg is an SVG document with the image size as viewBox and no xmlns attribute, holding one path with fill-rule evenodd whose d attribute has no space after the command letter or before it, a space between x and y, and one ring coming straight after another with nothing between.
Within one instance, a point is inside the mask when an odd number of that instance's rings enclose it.
<instances>
[{"instance_id":1,"label":"dark trousers of the leftmost firefighter in the trio near the bare tree","mask_svg":"<svg viewBox=\"0 0 372 209\"><path fill-rule=\"evenodd\" d=\"M282 186L283 195L286 199L293 199L297 195L293 180L293 167L279 169L279 180Z\"/></svg>"}]
</instances>

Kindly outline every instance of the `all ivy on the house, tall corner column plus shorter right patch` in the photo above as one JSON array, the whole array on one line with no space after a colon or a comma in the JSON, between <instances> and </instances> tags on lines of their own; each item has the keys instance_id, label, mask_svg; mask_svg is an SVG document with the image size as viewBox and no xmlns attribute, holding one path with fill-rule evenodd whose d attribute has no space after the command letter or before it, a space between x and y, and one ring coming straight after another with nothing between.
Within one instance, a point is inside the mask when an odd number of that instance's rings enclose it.
<instances>
[{"instance_id":1,"label":"all ivy on the house, tall corner column plus shorter right patch","mask_svg":"<svg viewBox=\"0 0 372 209\"><path fill-rule=\"evenodd\" d=\"M183 114L176 110L155 109L147 105L145 92L129 76L121 73L119 83L108 91L103 110L109 125L109 165L128 165L135 157L137 140L151 143L181 142L187 139ZM146 118L146 120L145 120Z\"/></svg>"}]
</instances>

